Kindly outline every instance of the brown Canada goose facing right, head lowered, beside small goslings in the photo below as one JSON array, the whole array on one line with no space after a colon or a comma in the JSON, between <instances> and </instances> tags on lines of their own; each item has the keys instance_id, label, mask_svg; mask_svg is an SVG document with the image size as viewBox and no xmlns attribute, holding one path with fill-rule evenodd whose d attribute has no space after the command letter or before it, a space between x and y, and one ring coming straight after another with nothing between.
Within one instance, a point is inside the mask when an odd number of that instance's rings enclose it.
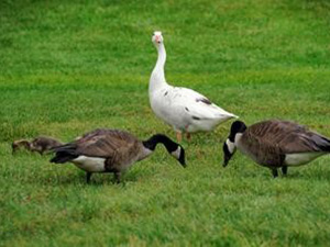
<instances>
[{"instance_id":1,"label":"brown Canada goose facing right, head lowered, beside small goslings","mask_svg":"<svg viewBox=\"0 0 330 247\"><path fill-rule=\"evenodd\" d=\"M86 171L87 183L92 172L113 172L119 183L121 172L148 157L158 143L162 143L184 167L186 166L185 149L165 135L156 134L147 141L139 141L128 132L106 128L95 130L72 143L56 147L55 157L51 162L75 164Z\"/></svg>"}]
</instances>

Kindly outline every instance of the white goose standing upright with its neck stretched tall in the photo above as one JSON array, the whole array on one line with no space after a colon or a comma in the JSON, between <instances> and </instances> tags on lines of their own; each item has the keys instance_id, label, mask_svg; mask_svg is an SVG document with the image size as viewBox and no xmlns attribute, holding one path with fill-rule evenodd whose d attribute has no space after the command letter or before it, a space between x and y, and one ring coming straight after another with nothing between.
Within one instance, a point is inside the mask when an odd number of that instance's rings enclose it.
<instances>
[{"instance_id":1,"label":"white goose standing upright with its neck stretched tall","mask_svg":"<svg viewBox=\"0 0 330 247\"><path fill-rule=\"evenodd\" d=\"M191 89L168 85L164 72L166 52L162 33L154 32L152 42L158 50L158 59L148 85L151 108L156 116L173 126L178 142L182 133L190 139L190 133L212 131L218 124L237 117Z\"/></svg>"}]
</instances>

